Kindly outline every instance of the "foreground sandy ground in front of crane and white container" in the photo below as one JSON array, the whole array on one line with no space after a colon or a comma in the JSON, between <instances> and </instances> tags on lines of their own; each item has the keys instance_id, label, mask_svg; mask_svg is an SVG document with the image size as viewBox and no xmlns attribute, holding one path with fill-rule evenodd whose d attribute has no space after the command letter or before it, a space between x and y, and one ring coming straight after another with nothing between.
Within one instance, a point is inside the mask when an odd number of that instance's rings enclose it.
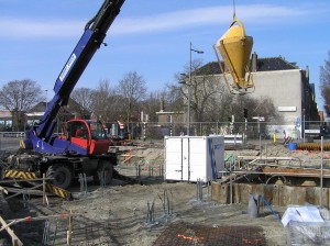
<instances>
[{"instance_id":1,"label":"foreground sandy ground in front of crane and white container","mask_svg":"<svg viewBox=\"0 0 330 246\"><path fill-rule=\"evenodd\" d=\"M154 205L151 219L147 217L147 204ZM66 214L69 212L74 215L72 245L154 245L164 230L175 222L211 227L262 226L266 245L286 243L286 230L266 208L258 217L251 219L246 204L220 205L210 201L207 187L202 201L198 201L195 183L113 185L85 194L76 193L74 201L50 198L50 206L43 205L41 199L26 201L21 208L18 203L11 206L19 209L12 214L19 217L59 215L48 220L50 243L57 225L55 245L66 245ZM274 210L279 214L284 212L284 208ZM44 225L44 220L22 222L13 230L24 245L41 245Z\"/></svg>"}]
</instances>

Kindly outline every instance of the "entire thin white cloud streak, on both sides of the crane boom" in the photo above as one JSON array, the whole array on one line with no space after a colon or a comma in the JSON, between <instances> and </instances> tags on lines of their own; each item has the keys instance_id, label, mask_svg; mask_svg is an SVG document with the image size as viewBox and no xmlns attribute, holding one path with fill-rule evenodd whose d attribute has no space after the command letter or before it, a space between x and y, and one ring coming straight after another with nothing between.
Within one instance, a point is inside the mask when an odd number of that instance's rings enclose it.
<instances>
[{"instance_id":1,"label":"entire thin white cloud streak, on both sides of the crane boom","mask_svg":"<svg viewBox=\"0 0 330 246\"><path fill-rule=\"evenodd\" d=\"M310 10L309 10L310 11ZM294 16L308 13L304 7L292 9L284 5L251 4L239 5L239 19L262 23L293 20ZM111 35L129 33L148 33L166 30L182 30L191 26L228 24L232 18L232 7L211 7L174 11L143 18L121 18L114 21ZM0 36L6 37L70 37L81 33L82 21L35 21L0 18Z\"/></svg>"}]
</instances>

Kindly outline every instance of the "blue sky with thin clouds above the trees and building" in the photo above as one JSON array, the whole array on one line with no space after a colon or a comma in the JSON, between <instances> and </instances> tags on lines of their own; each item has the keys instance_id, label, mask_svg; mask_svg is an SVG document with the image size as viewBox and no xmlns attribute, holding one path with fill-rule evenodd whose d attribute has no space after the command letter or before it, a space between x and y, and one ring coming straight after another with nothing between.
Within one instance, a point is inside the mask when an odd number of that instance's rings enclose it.
<instances>
[{"instance_id":1,"label":"blue sky with thin clouds above the trees and building","mask_svg":"<svg viewBox=\"0 0 330 246\"><path fill-rule=\"evenodd\" d=\"M53 90L84 26L103 0L0 0L0 86L32 79ZM212 45L232 21L232 0L127 0L76 88L112 86L136 71L150 91L175 82L189 63L189 42L216 62ZM305 69L319 89L319 67L330 51L329 0L235 0L238 19L258 57L282 56ZM270 88L272 89L272 88ZM322 105L320 96L318 104Z\"/></svg>"}]
</instances>

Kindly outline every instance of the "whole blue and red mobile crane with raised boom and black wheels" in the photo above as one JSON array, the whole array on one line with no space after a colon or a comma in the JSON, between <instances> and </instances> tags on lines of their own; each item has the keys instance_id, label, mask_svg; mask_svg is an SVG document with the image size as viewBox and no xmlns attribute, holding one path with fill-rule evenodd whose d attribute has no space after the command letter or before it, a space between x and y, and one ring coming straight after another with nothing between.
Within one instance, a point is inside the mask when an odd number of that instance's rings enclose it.
<instances>
[{"instance_id":1,"label":"whole blue and red mobile crane with raised boom and black wheels","mask_svg":"<svg viewBox=\"0 0 330 246\"><path fill-rule=\"evenodd\" d=\"M105 0L97 14L87 22L82 36L57 77L54 98L41 121L25 133L25 139L20 143L21 148L35 154L33 160L20 161L20 169L33 171L38 177L45 174L52 178L53 185L63 189L82 172L94 176L96 182L100 182L100 177L106 183L111 181L117 157L108 152L109 141L100 122L75 119L65 123L63 136L55 136L53 132L59 109L67 105L72 91L103 44L106 33L123 3L124 0Z\"/></svg>"}]
</instances>

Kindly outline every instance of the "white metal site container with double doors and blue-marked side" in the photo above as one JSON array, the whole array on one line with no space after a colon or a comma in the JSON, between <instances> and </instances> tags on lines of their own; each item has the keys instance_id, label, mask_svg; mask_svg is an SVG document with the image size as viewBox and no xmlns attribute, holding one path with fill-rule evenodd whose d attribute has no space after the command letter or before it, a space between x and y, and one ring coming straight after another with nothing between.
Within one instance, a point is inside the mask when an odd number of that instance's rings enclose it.
<instances>
[{"instance_id":1,"label":"white metal site container with double doors and blue-marked side","mask_svg":"<svg viewBox=\"0 0 330 246\"><path fill-rule=\"evenodd\" d=\"M165 180L204 182L220 179L223 136L165 136Z\"/></svg>"}]
</instances>

